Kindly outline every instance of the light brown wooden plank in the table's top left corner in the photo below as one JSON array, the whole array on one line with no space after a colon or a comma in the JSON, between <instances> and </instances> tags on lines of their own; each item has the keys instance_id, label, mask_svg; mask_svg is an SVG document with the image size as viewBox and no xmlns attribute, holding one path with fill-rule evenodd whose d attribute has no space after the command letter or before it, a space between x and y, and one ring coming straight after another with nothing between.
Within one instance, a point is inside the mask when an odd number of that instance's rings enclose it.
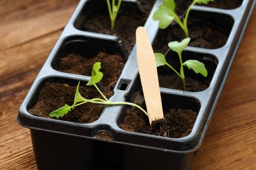
<instances>
[{"instance_id":1,"label":"light brown wooden plank in the table's top left corner","mask_svg":"<svg viewBox=\"0 0 256 170\"><path fill-rule=\"evenodd\" d=\"M67 24L79 0L1 0L0 51Z\"/></svg>"}]
</instances>

